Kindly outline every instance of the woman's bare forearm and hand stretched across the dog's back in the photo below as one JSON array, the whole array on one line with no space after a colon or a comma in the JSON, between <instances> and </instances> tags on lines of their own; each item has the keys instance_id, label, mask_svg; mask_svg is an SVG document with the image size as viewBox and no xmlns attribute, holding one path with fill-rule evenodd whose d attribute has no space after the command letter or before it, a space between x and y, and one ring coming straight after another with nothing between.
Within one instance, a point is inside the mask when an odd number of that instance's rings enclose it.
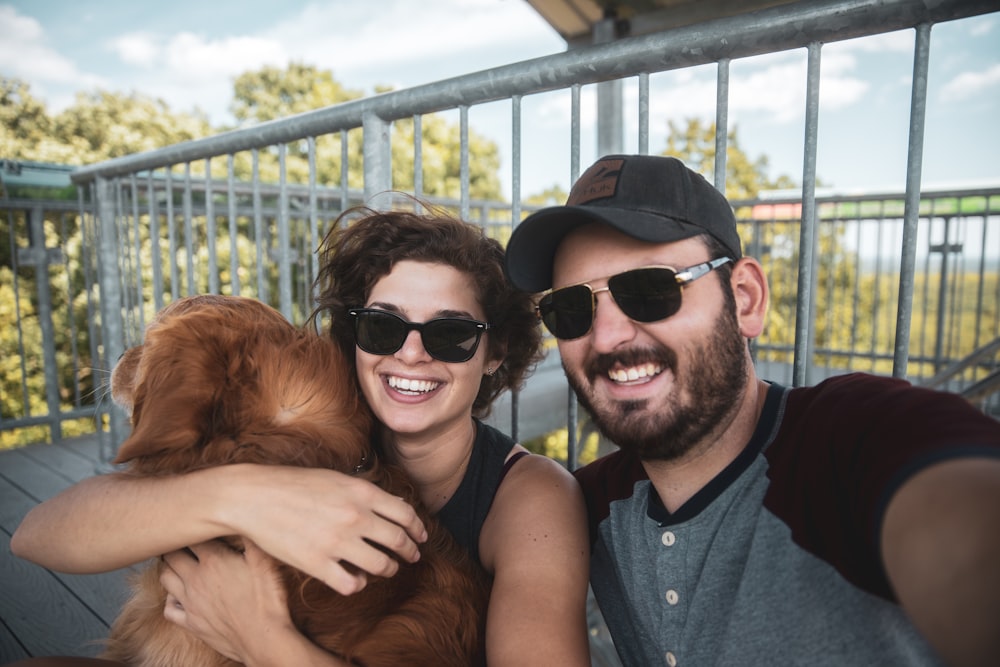
<instances>
[{"instance_id":1,"label":"woman's bare forearm and hand stretched across the dog's back","mask_svg":"<svg viewBox=\"0 0 1000 667\"><path fill-rule=\"evenodd\" d=\"M85 480L38 505L11 539L22 558L65 572L101 572L224 535L267 553L344 594L364 574L391 576L419 558L426 532L413 508L375 485L331 470L230 465L185 475Z\"/></svg>"}]
</instances>

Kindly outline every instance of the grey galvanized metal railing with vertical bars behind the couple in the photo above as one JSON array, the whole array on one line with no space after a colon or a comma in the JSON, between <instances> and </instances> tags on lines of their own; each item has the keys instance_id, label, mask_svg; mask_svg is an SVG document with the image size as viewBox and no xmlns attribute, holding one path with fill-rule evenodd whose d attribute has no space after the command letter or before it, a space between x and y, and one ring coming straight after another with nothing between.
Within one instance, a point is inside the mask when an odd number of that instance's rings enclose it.
<instances>
[{"instance_id":1,"label":"grey galvanized metal railing with vertical bars behind the couple","mask_svg":"<svg viewBox=\"0 0 1000 667\"><path fill-rule=\"evenodd\" d=\"M768 334L755 349L758 363L785 364L790 374L774 379L790 384L805 384L859 366L900 377L930 377L969 353L963 347L969 341L963 336L972 335L980 344L991 338L991 331L995 336L998 287L996 258L989 249L1000 245L996 242L996 189L921 192L930 28L934 23L996 9L995 0L797 2L384 93L81 168L73 174L81 192L77 222L87 257L81 270L93 271L87 275L98 283L88 286L86 300L86 322L93 327L88 331L95 341L91 365L98 369L95 372L106 373L125 346L141 335L143 323L164 299L180 294L209 291L257 296L293 320L308 312L308 286L316 273L314 250L329 222L353 203L394 205L391 197L377 197L393 188L391 156L399 148L394 145L398 140L391 132L393 123L413 123L412 143L403 148L413 158L412 192L422 197L422 119L436 112L457 112L461 193L457 201L444 203L462 217L487 225L491 234L503 240L528 210L522 203L521 145L522 105L530 96L570 93L565 132L570 177L575 179L581 170L584 86L636 82L637 145L639 152L647 153L650 75L714 64L716 155L723 156L716 161L714 182L723 189L730 63L763 53L805 49L805 185L791 200L734 202L743 221L741 233L748 254L764 261L772 287L783 286L776 288L782 299L772 308ZM916 35L905 192L853 204L847 201L850 198L818 196L814 184L823 44L901 29L913 29ZM510 106L509 204L473 201L469 188L470 109L497 101ZM340 164L347 165L352 143L361 146L363 186L348 187L346 167L339 182L320 182L317 163L338 157L329 153L335 149L328 146L336 145ZM307 175L290 176L294 171L290 165L303 161ZM277 173L275 180L261 177L265 164ZM970 213L963 202L976 198L980 204ZM873 205L888 208L881 213L865 208L877 201L883 203ZM773 209L778 205L794 210L778 214ZM772 213L766 213L767 206ZM828 209L837 206L841 206L839 213L829 214ZM951 206L958 208L947 208ZM892 251L866 253L872 234L879 248L891 247ZM955 250L956 234L962 238L961 252ZM852 240L852 235L860 242ZM937 255L932 249L936 236L943 239L944 248ZM978 246L974 238L980 239ZM931 241L925 243L927 239ZM936 258L940 258L939 265ZM853 280L845 276L845 267L853 267ZM964 319L970 316L966 314L968 290L977 295L972 297L978 304L971 315L978 318L974 325ZM848 298L847 294L853 299L849 308L838 301ZM915 301L918 308L914 308ZM851 313L853 319L832 317L841 312L835 310L840 307L848 308L843 312ZM870 321L867 327L861 324L866 319ZM853 327L847 335L854 342L841 346L845 325ZM974 333L969 333L969 326ZM995 359L977 361L963 371L968 376L961 375L959 381L972 384L995 367ZM776 374L785 372L778 366L772 368ZM95 390L100 391L99 386L95 382ZM573 401L567 403L573 457L576 418ZM120 442L127 428L124 416L106 409L102 405L99 412L110 415L109 442ZM515 402L515 433L517 421ZM0 429L10 423L4 415Z\"/></svg>"}]
</instances>

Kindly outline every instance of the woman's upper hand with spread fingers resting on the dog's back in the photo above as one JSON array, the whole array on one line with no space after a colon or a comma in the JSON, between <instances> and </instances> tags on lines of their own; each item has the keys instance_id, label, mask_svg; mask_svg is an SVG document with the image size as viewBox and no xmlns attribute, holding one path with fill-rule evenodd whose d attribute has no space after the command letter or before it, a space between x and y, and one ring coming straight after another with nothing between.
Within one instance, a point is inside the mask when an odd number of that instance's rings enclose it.
<instances>
[{"instance_id":1,"label":"woman's upper hand with spread fingers resting on the dog's back","mask_svg":"<svg viewBox=\"0 0 1000 667\"><path fill-rule=\"evenodd\" d=\"M237 467L237 466L233 466ZM223 523L278 560L320 579L343 595L365 587L365 573L390 577L399 563L420 558L427 532L413 507L376 485L332 470L239 466L240 499L221 505ZM352 563L360 572L343 566Z\"/></svg>"}]
</instances>

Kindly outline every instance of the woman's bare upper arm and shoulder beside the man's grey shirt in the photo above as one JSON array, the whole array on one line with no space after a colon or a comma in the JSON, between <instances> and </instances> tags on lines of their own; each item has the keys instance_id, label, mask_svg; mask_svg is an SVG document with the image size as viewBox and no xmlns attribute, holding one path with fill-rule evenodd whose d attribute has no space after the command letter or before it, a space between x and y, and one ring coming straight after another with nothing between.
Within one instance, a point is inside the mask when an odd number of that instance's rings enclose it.
<instances>
[{"instance_id":1,"label":"woman's bare upper arm and shoulder beside the man's grey shirt","mask_svg":"<svg viewBox=\"0 0 1000 667\"><path fill-rule=\"evenodd\" d=\"M493 573L490 667L590 665L590 547L583 495L557 462L525 457L497 492L480 538Z\"/></svg>"}]
</instances>

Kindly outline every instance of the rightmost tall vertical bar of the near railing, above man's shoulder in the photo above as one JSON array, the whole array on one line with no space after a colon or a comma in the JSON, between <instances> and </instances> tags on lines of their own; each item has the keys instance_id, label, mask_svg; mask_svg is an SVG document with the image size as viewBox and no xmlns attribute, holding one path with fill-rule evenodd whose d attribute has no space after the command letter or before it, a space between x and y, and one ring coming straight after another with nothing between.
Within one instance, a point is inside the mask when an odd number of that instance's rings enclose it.
<instances>
[{"instance_id":1,"label":"rightmost tall vertical bar of the near railing, above man's shoulder","mask_svg":"<svg viewBox=\"0 0 1000 667\"><path fill-rule=\"evenodd\" d=\"M913 312L913 277L917 263L920 177L924 159L924 124L927 120L927 72L930 52L931 26L922 23L916 28L913 50L910 137L906 149L906 199L903 205L903 252L899 270L899 305L896 309L896 344L892 355L892 376L898 378L906 377L910 355L910 317ZM947 243L946 236L945 244Z\"/></svg>"}]
</instances>

